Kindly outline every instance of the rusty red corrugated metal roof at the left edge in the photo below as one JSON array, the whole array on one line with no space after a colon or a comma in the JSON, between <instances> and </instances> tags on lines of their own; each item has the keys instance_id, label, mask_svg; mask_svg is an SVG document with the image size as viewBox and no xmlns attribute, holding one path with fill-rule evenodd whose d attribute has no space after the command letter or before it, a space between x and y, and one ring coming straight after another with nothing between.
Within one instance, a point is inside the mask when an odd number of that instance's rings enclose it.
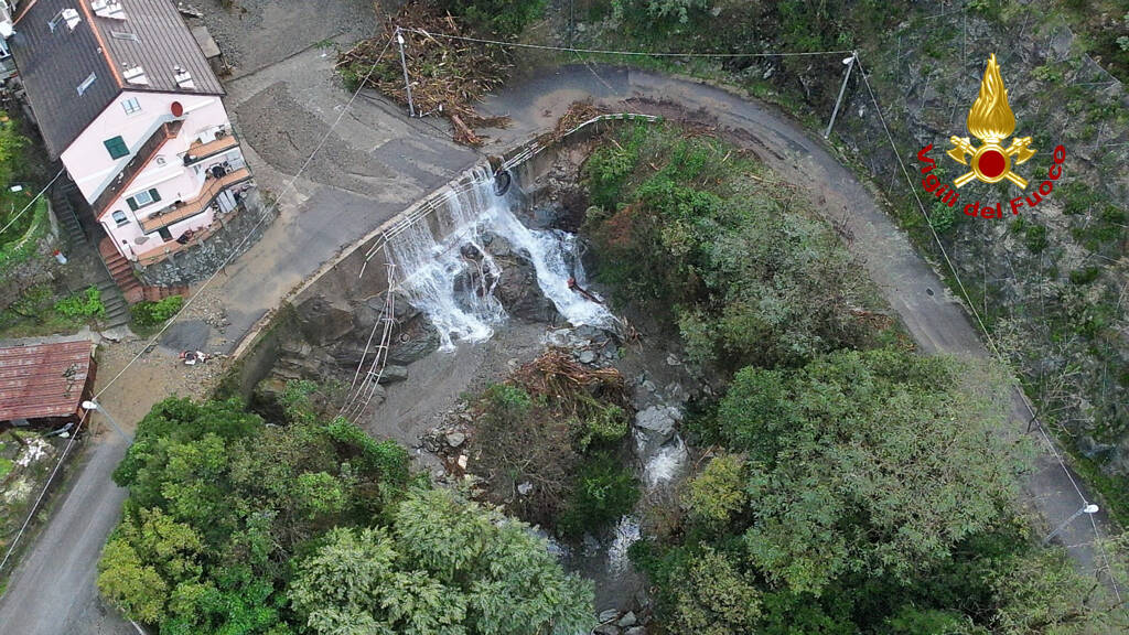
<instances>
[{"instance_id":1,"label":"rusty red corrugated metal roof at the left edge","mask_svg":"<svg viewBox=\"0 0 1129 635\"><path fill-rule=\"evenodd\" d=\"M93 353L86 338L0 342L0 421L73 415Z\"/></svg>"}]
</instances>

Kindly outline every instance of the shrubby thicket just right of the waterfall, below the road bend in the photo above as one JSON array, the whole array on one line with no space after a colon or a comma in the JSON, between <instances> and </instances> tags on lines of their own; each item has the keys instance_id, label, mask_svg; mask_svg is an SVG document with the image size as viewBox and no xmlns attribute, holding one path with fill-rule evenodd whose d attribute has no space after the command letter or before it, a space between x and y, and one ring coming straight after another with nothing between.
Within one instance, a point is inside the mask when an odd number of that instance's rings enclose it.
<instances>
[{"instance_id":1,"label":"shrubby thicket just right of the waterfall, below the road bend","mask_svg":"<svg viewBox=\"0 0 1129 635\"><path fill-rule=\"evenodd\" d=\"M688 136L689 137L689 136ZM584 166L598 279L673 308L698 362L795 365L872 333L858 263L763 166L709 137L638 127Z\"/></svg>"}]
</instances>

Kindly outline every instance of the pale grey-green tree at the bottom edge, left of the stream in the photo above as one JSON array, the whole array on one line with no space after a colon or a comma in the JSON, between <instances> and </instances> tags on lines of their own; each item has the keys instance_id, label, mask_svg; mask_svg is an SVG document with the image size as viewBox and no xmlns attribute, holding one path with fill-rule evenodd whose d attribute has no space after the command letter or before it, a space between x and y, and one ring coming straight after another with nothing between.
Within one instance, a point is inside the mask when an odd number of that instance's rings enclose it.
<instances>
[{"instance_id":1,"label":"pale grey-green tree at the bottom edge, left of the stream","mask_svg":"<svg viewBox=\"0 0 1129 635\"><path fill-rule=\"evenodd\" d=\"M528 527L441 489L412 493L391 531L335 529L290 589L326 633L572 635L593 626L590 583Z\"/></svg>"}]
</instances>

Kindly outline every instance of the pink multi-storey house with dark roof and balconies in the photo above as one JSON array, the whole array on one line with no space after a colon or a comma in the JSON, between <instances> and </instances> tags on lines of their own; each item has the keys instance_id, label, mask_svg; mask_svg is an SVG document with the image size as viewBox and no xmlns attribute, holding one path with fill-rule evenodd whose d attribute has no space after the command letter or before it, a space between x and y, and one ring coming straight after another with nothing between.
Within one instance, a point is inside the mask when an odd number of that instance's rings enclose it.
<instances>
[{"instance_id":1,"label":"pink multi-storey house with dark roof and balconies","mask_svg":"<svg viewBox=\"0 0 1129 635\"><path fill-rule=\"evenodd\" d=\"M240 208L224 88L172 0L24 0L14 31L47 151L122 258L159 262Z\"/></svg>"}]
</instances>

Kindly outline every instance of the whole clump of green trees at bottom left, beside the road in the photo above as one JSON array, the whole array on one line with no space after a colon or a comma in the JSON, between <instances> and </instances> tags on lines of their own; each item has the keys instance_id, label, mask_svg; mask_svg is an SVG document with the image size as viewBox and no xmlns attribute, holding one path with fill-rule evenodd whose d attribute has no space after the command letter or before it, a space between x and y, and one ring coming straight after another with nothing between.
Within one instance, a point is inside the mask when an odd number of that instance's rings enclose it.
<instances>
[{"instance_id":1,"label":"whole clump of green trees at bottom left, beside the road","mask_svg":"<svg viewBox=\"0 0 1129 635\"><path fill-rule=\"evenodd\" d=\"M163 635L540 635L588 619L592 590L543 541L420 489L403 447L322 420L309 390L287 391L283 425L237 401L158 403L114 472L130 496L99 564L103 597ZM499 627L509 608L528 619Z\"/></svg>"}]
</instances>

